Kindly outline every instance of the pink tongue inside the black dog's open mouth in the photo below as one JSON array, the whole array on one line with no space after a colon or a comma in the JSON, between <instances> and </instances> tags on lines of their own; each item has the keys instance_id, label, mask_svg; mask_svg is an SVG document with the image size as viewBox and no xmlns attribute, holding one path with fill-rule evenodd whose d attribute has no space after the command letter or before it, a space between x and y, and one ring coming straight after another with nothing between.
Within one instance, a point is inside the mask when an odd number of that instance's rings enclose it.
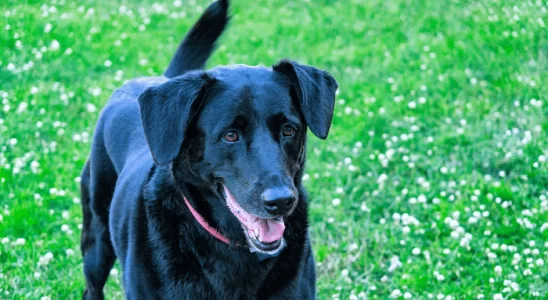
<instances>
[{"instance_id":1,"label":"pink tongue inside the black dog's open mouth","mask_svg":"<svg viewBox=\"0 0 548 300\"><path fill-rule=\"evenodd\" d=\"M255 236L258 232L259 241L272 243L281 239L284 235L285 224L282 219L261 219L246 212L234 199L234 196L225 188L226 203L232 213L247 228L249 235Z\"/></svg>"}]
</instances>

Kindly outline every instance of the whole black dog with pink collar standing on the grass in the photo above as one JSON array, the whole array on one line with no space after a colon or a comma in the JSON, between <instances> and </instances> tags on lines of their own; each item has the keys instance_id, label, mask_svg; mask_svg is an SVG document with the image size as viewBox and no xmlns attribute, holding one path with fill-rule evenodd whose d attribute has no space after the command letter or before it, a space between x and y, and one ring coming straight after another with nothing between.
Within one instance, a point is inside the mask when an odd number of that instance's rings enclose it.
<instances>
[{"instance_id":1,"label":"whole black dog with pink collar standing on the grass","mask_svg":"<svg viewBox=\"0 0 548 300\"><path fill-rule=\"evenodd\" d=\"M101 113L81 177L85 299L116 258L128 299L315 298L301 177L337 83L292 61L201 70L227 9L211 4L165 77L128 82Z\"/></svg>"}]
</instances>

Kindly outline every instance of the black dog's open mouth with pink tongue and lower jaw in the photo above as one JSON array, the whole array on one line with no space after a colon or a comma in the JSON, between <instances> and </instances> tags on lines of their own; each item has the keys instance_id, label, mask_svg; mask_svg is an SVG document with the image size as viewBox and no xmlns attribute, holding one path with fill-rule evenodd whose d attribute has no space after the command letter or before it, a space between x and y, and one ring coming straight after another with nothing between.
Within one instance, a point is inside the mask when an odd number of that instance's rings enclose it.
<instances>
[{"instance_id":1,"label":"black dog's open mouth with pink tongue and lower jaw","mask_svg":"<svg viewBox=\"0 0 548 300\"><path fill-rule=\"evenodd\" d=\"M226 203L242 224L251 252L275 254L285 246L285 223L281 216L265 219L243 209L230 191L224 187Z\"/></svg>"}]
</instances>

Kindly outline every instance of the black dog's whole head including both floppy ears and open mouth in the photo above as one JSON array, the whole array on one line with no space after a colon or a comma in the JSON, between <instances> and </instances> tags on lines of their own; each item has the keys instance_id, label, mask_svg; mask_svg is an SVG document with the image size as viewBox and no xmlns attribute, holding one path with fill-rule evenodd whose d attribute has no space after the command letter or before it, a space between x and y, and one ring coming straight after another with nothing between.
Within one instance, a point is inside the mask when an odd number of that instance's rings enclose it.
<instances>
[{"instance_id":1,"label":"black dog's whole head including both floppy ears and open mouth","mask_svg":"<svg viewBox=\"0 0 548 300\"><path fill-rule=\"evenodd\" d=\"M149 88L139 104L156 163L216 187L249 245L271 253L299 199L307 128L327 137L336 89L327 72L282 61L189 72Z\"/></svg>"}]
</instances>

